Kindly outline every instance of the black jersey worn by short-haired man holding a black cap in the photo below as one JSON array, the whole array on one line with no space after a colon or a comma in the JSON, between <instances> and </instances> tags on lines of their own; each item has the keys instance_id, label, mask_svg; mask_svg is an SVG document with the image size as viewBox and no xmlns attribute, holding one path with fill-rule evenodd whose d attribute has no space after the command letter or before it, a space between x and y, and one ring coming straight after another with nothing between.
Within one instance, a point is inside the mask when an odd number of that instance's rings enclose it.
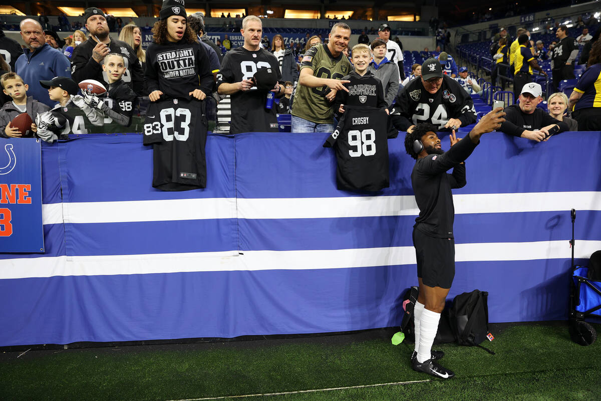
<instances>
[{"instance_id":1,"label":"black jersey worn by short-haired man holding a black cap","mask_svg":"<svg viewBox=\"0 0 601 401\"><path fill-rule=\"evenodd\" d=\"M272 69L278 75L278 81L282 80L278 60L273 54L264 49L251 52L244 47L237 47L225 54L217 74L217 87L224 83L234 84L243 79L251 79L261 68ZM230 133L278 132L278 107L273 102L271 109L265 108L267 93L252 87L246 92L237 91L230 98Z\"/></svg>"}]
</instances>

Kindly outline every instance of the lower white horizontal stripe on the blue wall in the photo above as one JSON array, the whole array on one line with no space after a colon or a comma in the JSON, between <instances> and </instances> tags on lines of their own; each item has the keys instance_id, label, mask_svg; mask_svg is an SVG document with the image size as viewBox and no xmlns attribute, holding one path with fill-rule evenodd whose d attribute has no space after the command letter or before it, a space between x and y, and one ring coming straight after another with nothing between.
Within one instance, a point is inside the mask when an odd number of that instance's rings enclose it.
<instances>
[{"instance_id":1,"label":"lower white horizontal stripe on the blue wall","mask_svg":"<svg viewBox=\"0 0 601 401\"><path fill-rule=\"evenodd\" d=\"M588 258L601 241L578 240L577 258ZM236 251L118 256L59 256L2 260L0 279L70 275L153 274L199 271L340 269L415 264L412 246L307 251ZM567 240L462 243L457 262L569 259Z\"/></svg>"}]
</instances>

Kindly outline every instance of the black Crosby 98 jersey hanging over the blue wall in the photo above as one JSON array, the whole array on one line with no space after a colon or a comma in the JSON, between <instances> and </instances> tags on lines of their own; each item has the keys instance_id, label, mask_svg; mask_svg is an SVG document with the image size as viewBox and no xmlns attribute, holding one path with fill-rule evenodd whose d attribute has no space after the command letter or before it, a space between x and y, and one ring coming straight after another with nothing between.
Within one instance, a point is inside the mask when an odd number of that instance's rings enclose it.
<instances>
[{"instance_id":1,"label":"black Crosby 98 jersey hanging over the blue wall","mask_svg":"<svg viewBox=\"0 0 601 401\"><path fill-rule=\"evenodd\" d=\"M382 86L379 85L381 88ZM323 147L335 146L338 189L380 191L388 187L388 114L381 108L349 106Z\"/></svg>"}]
</instances>

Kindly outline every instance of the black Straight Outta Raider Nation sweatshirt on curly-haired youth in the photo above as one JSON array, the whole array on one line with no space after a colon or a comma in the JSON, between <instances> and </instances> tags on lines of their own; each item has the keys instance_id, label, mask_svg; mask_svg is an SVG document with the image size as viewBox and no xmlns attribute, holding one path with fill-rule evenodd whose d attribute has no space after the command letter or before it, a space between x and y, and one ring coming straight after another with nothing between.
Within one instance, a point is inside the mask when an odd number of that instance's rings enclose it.
<instances>
[{"instance_id":1,"label":"black Straight Outta Raider Nation sweatshirt on curly-haired youth","mask_svg":"<svg viewBox=\"0 0 601 401\"><path fill-rule=\"evenodd\" d=\"M213 74L209 57L200 43L151 43L146 51L144 72L148 93L162 91L161 99L191 99L190 92L202 90L211 96Z\"/></svg>"}]
</instances>

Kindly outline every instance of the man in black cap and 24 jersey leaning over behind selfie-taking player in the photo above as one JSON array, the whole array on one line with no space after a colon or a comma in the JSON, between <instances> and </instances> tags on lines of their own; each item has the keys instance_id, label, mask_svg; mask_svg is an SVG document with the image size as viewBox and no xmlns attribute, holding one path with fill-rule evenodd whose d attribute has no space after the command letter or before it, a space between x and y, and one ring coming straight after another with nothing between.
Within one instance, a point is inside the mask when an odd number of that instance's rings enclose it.
<instances>
[{"instance_id":1,"label":"man in black cap and 24 jersey leaning over behind selfie-taking player","mask_svg":"<svg viewBox=\"0 0 601 401\"><path fill-rule=\"evenodd\" d=\"M476 122L472 97L442 73L435 58L424 61L421 79L413 79L400 91L391 116L395 128L406 132L412 132L419 123L453 130Z\"/></svg>"}]
</instances>

